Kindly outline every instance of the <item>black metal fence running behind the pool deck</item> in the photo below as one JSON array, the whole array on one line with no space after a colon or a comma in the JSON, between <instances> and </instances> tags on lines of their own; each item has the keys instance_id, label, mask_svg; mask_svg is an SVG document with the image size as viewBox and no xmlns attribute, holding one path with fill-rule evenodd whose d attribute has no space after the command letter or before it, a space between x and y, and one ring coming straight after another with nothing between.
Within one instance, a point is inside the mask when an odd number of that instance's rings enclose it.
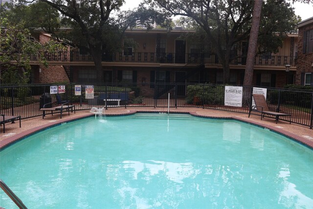
<instances>
[{"instance_id":1,"label":"black metal fence running behind the pool deck","mask_svg":"<svg viewBox=\"0 0 313 209\"><path fill-rule=\"evenodd\" d=\"M75 86L76 85L76 86ZM27 86L0 86L0 114L19 115L22 118L42 116L40 108L58 100L74 104L76 110L92 107L198 107L236 113L249 113L253 87L243 87L241 107L224 105L224 85L199 83L116 83L93 85L92 98L86 98L86 87L93 84L45 84ZM52 90L50 87L54 87ZM81 95L75 87L80 88ZM61 92L58 93L60 88ZM54 91L54 93L50 93ZM58 96L57 96L58 95ZM267 89L267 103L271 111L289 113L291 120L313 127L313 91ZM252 114L259 114L252 112Z\"/></svg>"}]
</instances>

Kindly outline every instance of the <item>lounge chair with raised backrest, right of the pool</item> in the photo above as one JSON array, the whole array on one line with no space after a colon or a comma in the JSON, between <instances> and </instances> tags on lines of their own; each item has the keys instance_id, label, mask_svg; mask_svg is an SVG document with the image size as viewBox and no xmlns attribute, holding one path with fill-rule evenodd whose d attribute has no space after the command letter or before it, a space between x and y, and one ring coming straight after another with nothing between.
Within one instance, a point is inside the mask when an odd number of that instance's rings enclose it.
<instances>
[{"instance_id":1,"label":"lounge chair with raised backrest, right of the pool","mask_svg":"<svg viewBox=\"0 0 313 209\"><path fill-rule=\"evenodd\" d=\"M276 123L277 123L279 116L290 116L289 121L291 123L291 114L269 111L268 104L266 103L266 99L263 94L252 93L252 96L254 99L255 106L252 106L251 104L250 110L249 110L249 117L250 117L251 111L256 111L256 112L261 113L261 120L265 115L270 115L270 116L275 116Z\"/></svg>"}]
</instances>

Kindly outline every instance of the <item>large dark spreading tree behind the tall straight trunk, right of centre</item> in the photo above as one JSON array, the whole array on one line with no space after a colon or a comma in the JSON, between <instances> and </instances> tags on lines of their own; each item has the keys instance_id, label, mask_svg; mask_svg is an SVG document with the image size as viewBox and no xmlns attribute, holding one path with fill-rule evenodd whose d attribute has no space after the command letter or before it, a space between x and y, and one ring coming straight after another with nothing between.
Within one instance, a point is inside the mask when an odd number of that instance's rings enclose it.
<instances>
[{"instance_id":1,"label":"large dark spreading tree behind the tall straight trunk, right of centre","mask_svg":"<svg viewBox=\"0 0 313 209\"><path fill-rule=\"evenodd\" d=\"M229 63L232 59L237 58L232 52L239 49L242 41L249 39L253 0L146 0L146 2L154 8L158 8L159 12L167 13L168 16L180 15L192 18L205 33L205 38L212 45L212 53L218 56L223 66L224 83L229 82ZM262 12L272 15L270 20L261 21L260 33L264 37L266 35L277 37L274 34L277 30L282 36L295 28L295 15L290 3L281 0L267 0L263 6L266 5L268 5L267 9L263 8ZM284 10L285 13L280 13L281 10ZM278 46L282 44L281 37L280 39L273 38L273 40L271 45L266 43L267 47L272 46L271 48L277 50ZM263 43L259 48L265 48Z\"/></svg>"}]
</instances>

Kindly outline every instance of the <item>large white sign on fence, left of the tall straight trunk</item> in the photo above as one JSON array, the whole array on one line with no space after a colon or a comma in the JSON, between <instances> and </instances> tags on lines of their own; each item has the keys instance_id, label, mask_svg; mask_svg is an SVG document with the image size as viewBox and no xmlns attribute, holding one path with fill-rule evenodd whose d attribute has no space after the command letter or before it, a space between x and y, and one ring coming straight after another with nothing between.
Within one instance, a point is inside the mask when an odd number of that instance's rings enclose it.
<instances>
[{"instance_id":1,"label":"large white sign on fence, left of the tall straight trunk","mask_svg":"<svg viewBox=\"0 0 313 209\"><path fill-rule=\"evenodd\" d=\"M225 86L224 105L233 107L242 107L243 105L243 87Z\"/></svg>"}]
</instances>

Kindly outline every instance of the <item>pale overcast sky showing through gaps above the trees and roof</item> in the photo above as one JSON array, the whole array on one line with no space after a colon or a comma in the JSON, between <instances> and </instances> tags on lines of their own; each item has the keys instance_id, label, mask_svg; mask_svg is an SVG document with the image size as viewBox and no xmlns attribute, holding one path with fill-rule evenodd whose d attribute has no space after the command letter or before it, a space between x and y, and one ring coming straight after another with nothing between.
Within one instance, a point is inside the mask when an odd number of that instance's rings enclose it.
<instances>
[{"instance_id":1,"label":"pale overcast sky showing through gaps above the trees and roof","mask_svg":"<svg viewBox=\"0 0 313 209\"><path fill-rule=\"evenodd\" d=\"M122 7L123 10L133 9L138 6L142 0L125 0L125 4ZM294 12L299 15L302 20L313 17L313 3L300 3L296 2L293 4Z\"/></svg>"}]
</instances>

